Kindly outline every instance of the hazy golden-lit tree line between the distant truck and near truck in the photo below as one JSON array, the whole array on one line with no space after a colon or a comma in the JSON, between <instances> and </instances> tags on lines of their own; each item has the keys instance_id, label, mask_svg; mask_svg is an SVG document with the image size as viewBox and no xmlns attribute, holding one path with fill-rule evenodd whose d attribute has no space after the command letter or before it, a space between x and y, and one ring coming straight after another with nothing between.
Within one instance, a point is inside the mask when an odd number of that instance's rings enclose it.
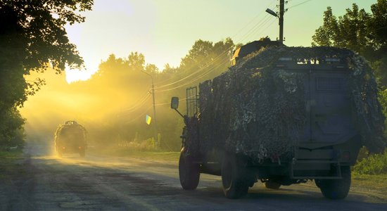
<instances>
[{"instance_id":1,"label":"hazy golden-lit tree line between the distant truck and near truck","mask_svg":"<svg viewBox=\"0 0 387 211\"><path fill-rule=\"evenodd\" d=\"M64 79L58 80L58 76L50 75L39 96L31 97L27 106L36 108L38 106L32 106L32 103L41 105L46 98L51 98L51 101L44 102L44 113L34 112L35 115L39 113L39 118L46 119L46 124L51 124L46 133L65 121L65 113L67 118L75 118L84 124L93 142L91 144L101 148L130 141L141 142L154 136L153 77L160 147L178 151L183 120L175 110L170 109L171 96L182 99L180 110L184 113L186 87L197 86L198 82L212 79L227 70L234 46L229 38L215 43L199 39L179 66L167 64L163 70L146 63L142 53L132 52L125 58L111 54L87 81L67 84ZM61 98L68 99L70 103L61 101ZM150 125L146 124L146 115L153 118ZM30 120L31 116L26 114ZM37 131L42 134L42 129Z\"/></svg>"}]
</instances>

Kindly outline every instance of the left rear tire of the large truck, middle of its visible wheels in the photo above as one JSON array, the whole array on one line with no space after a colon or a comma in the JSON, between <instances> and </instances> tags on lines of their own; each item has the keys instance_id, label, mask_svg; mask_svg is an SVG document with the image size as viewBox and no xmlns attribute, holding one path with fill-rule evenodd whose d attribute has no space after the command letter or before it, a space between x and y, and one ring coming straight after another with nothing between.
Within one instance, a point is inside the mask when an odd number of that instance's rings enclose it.
<instances>
[{"instance_id":1,"label":"left rear tire of the large truck, middle of its visible wheels","mask_svg":"<svg viewBox=\"0 0 387 211\"><path fill-rule=\"evenodd\" d=\"M222 162L222 185L224 196L241 198L248 193L248 171L240 165L236 155L227 154Z\"/></svg>"}]
</instances>

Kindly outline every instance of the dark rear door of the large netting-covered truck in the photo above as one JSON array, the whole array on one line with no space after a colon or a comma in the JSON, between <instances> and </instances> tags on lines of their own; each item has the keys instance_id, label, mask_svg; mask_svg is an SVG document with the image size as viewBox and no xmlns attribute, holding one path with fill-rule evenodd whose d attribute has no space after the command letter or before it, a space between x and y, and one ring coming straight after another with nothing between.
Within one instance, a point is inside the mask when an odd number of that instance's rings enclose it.
<instances>
[{"instance_id":1,"label":"dark rear door of the large netting-covered truck","mask_svg":"<svg viewBox=\"0 0 387 211\"><path fill-rule=\"evenodd\" d=\"M310 71L307 91L310 142L331 145L355 135L348 78L349 72Z\"/></svg>"}]
</instances>

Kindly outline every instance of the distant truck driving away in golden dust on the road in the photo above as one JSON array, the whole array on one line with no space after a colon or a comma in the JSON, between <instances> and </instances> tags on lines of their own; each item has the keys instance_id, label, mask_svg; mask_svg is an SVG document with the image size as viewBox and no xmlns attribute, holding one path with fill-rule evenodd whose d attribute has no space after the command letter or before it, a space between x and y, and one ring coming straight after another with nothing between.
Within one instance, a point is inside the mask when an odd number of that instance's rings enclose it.
<instances>
[{"instance_id":1,"label":"distant truck driving away in golden dust on the road","mask_svg":"<svg viewBox=\"0 0 387 211\"><path fill-rule=\"evenodd\" d=\"M54 141L59 157L67 153L79 153L81 157L86 155L87 131L75 121L60 124L56 129Z\"/></svg>"}]
</instances>

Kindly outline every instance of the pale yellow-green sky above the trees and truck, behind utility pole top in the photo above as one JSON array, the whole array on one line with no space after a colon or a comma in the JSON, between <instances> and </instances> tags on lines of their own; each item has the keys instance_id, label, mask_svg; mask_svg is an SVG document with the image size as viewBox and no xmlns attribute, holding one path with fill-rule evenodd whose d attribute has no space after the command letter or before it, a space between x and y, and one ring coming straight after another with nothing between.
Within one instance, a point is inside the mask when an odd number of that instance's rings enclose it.
<instances>
[{"instance_id":1,"label":"pale yellow-green sky above the trees and truck, behind utility pole top","mask_svg":"<svg viewBox=\"0 0 387 211\"><path fill-rule=\"evenodd\" d=\"M340 16L353 3L370 12L376 0L288 0L284 44L310 46L327 6ZM179 66L198 39L215 43L231 37L243 44L266 36L275 40L278 19L265 10L277 12L277 4L278 0L94 0L92 11L82 13L84 23L66 26L86 68L66 70L66 79L88 79L111 53L127 58L137 51L146 63L163 70L167 63Z\"/></svg>"}]
</instances>

